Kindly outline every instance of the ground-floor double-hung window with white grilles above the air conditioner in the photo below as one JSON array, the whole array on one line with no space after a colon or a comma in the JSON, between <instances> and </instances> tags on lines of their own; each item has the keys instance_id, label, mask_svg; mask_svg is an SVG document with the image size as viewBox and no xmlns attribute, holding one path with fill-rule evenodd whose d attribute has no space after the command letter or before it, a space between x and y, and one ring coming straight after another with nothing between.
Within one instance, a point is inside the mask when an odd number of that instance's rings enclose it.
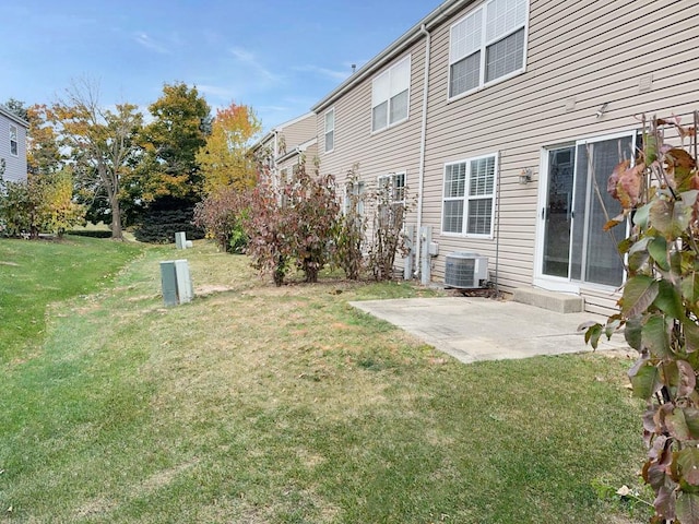
<instances>
[{"instance_id":1,"label":"ground-floor double-hung window with white grilles above the air conditioner","mask_svg":"<svg viewBox=\"0 0 699 524\"><path fill-rule=\"evenodd\" d=\"M445 166L442 233L493 236L495 155Z\"/></svg>"}]
</instances>

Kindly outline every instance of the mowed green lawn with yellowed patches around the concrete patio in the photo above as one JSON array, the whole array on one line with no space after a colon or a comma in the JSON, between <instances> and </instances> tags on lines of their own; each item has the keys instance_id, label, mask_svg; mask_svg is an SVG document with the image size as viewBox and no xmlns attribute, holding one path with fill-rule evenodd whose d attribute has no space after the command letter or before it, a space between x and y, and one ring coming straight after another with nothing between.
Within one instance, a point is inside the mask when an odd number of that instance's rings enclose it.
<instances>
[{"instance_id":1,"label":"mowed green lawn with yellowed patches around the concrete patio","mask_svg":"<svg viewBox=\"0 0 699 524\"><path fill-rule=\"evenodd\" d=\"M181 257L198 296L166 309ZM203 242L0 240L0 522L648 516L594 488L638 486L625 358L463 365L346 303L434 291L275 288Z\"/></svg>"}]
</instances>

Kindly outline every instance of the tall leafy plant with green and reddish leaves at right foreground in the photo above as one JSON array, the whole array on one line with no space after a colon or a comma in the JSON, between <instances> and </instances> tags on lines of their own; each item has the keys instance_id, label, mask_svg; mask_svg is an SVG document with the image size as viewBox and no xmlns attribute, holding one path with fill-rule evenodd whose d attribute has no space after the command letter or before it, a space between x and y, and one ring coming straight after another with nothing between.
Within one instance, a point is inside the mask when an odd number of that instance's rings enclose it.
<instances>
[{"instance_id":1,"label":"tall leafy plant with green and reddish leaves at right foreground","mask_svg":"<svg viewBox=\"0 0 699 524\"><path fill-rule=\"evenodd\" d=\"M643 480L655 493L653 523L699 523L699 169L697 126L679 119L644 122L633 164L619 164L607 190L630 221L618 243L627 281L619 312L606 325L587 323L585 341L623 331L639 353L629 370L633 395L647 402ZM665 144L674 133L682 147ZM689 144L684 144L689 139Z\"/></svg>"}]
</instances>

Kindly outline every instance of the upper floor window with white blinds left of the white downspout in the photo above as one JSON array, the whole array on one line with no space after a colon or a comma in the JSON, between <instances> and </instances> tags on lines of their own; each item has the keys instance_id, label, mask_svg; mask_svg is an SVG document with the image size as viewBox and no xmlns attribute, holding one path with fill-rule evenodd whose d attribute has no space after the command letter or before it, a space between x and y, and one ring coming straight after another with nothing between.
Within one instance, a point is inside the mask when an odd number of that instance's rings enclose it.
<instances>
[{"instance_id":1,"label":"upper floor window with white blinds left of the white downspout","mask_svg":"<svg viewBox=\"0 0 699 524\"><path fill-rule=\"evenodd\" d=\"M407 118L411 85L411 57L391 66L371 82L371 131Z\"/></svg>"}]
</instances>

